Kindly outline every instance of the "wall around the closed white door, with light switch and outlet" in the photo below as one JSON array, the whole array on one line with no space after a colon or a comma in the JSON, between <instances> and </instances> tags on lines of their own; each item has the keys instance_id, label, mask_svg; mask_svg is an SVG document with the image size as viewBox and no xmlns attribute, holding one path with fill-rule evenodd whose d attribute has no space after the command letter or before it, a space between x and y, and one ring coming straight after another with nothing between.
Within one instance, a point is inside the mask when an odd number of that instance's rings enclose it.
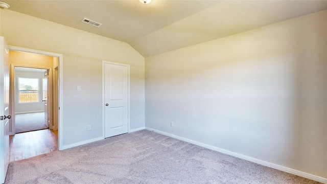
<instances>
[{"instance_id":1,"label":"wall around the closed white door, with light switch and outlet","mask_svg":"<svg viewBox=\"0 0 327 184\"><path fill-rule=\"evenodd\" d=\"M63 54L64 147L102 137L102 60L130 64L130 128L144 127L145 59L130 45L5 9L0 28L9 45Z\"/></svg>"}]
</instances>

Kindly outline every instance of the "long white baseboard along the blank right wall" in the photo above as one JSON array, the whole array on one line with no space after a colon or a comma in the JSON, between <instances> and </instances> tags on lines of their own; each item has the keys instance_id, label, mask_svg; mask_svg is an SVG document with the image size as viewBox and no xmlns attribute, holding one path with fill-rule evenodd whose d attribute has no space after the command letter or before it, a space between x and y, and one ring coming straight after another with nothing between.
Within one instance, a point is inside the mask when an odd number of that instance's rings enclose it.
<instances>
[{"instance_id":1,"label":"long white baseboard along the blank right wall","mask_svg":"<svg viewBox=\"0 0 327 184\"><path fill-rule=\"evenodd\" d=\"M260 160L260 159L252 158L252 157L245 156L245 155L242 155L242 154L239 154L239 153L231 152L231 151L224 150L224 149L221 149L221 148L217 148L217 147L214 147L214 146L211 146L211 145L207 145L207 144L196 142L196 141L193 141L193 140L190 140L190 139L186 139L184 137L177 136L177 135L174 135L174 134L171 134L171 133L159 131L159 130L148 128L148 127L145 127L145 129L150 130L150 131L154 131L154 132L157 132L157 133L160 133L160 134L164 134L164 135L173 137L175 139L185 141L185 142L188 142L188 143L191 143L191 144L195 144L195 145L198 145L198 146L201 146L201 147L204 147L204 148L215 150L215 151L218 151L218 152L221 152L221 153L224 153L224 154L228 154L228 155L231 155L231 156L242 158L242 159L248 160L248 161L256 163L256 164L260 164L260 165L263 165L263 166L267 166L267 167L270 167L270 168L281 170L281 171L284 171L284 172L287 172L287 173L291 173L291 174L301 176L301 177L304 177L304 178L308 178L308 179L311 179L311 180L315 180L315 181L318 181L318 182L327 183L327 178L312 175L312 174L309 174L309 173L305 173L305 172L298 171L298 170L295 170L295 169L287 168L287 167L284 167L284 166L279 166L279 165L269 163L269 162L266 162L266 161L263 161L263 160Z\"/></svg>"}]
</instances>

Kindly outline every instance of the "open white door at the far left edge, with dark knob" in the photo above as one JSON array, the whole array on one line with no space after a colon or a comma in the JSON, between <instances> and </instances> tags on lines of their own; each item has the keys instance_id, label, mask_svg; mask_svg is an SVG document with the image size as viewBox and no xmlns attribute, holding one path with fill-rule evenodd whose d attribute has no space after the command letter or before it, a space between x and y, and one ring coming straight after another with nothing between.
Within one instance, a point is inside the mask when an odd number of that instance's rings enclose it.
<instances>
[{"instance_id":1,"label":"open white door at the far left edge, with dark knob","mask_svg":"<svg viewBox=\"0 0 327 184\"><path fill-rule=\"evenodd\" d=\"M0 37L0 183L5 182L9 165L9 51Z\"/></svg>"}]
</instances>

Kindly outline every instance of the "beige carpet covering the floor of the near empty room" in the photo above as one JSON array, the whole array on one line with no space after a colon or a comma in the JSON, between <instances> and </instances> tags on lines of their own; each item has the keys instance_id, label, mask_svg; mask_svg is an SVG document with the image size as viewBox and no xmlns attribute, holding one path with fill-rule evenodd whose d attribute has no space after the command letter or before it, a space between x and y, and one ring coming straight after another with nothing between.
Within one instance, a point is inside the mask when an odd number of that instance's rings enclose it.
<instances>
[{"instance_id":1,"label":"beige carpet covering the floor of the near empty room","mask_svg":"<svg viewBox=\"0 0 327 184\"><path fill-rule=\"evenodd\" d=\"M141 130L11 162L5 183L318 183Z\"/></svg>"}]
</instances>

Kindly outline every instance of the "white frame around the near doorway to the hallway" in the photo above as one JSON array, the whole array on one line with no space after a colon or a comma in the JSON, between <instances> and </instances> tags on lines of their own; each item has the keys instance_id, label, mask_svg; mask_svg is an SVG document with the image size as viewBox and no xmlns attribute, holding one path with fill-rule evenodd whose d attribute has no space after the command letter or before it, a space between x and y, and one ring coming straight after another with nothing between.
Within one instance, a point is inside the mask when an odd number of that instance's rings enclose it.
<instances>
[{"instance_id":1,"label":"white frame around the near doorway to the hallway","mask_svg":"<svg viewBox=\"0 0 327 184\"><path fill-rule=\"evenodd\" d=\"M63 130L62 130L62 124L63 124L63 55L58 53L52 53L52 52L46 52L46 51L39 51L39 50L33 50L33 49L27 49L27 48L20 48L9 45L9 50L12 51L20 51L20 52L28 52L28 53L34 53L34 54L41 54L46 56L52 56L52 57L58 57L58 67L59 67L59 93L58 93L58 150L62 150L63 145ZM9 56L10 57L10 56ZM12 109L11 109L12 110Z\"/></svg>"}]
</instances>

